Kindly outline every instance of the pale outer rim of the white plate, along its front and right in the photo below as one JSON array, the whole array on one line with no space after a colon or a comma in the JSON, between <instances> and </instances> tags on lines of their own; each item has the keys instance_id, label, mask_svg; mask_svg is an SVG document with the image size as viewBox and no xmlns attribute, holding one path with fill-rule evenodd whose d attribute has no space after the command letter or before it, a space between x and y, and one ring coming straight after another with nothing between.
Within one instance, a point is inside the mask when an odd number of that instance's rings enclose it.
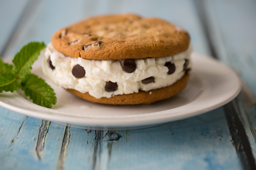
<instances>
[{"instance_id":1,"label":"pale outer rim of the white plate, along its front and right","mask_svg":"<svg viewBox=\"0 0 256 170\"><path fill-rule=\"evenodd\" d=\"M54 122L66 122L66 123L69 123L69 124L84 125L84 126L88 125L88 126L108 126L108 127L127 127L127 126L128 127L135 127L135 126L143 126L143 125L150 125L150 124L166 123L166 122L176 121L176 120L185 119L185 118L188 118L188 117L200 115L200 114L203 114L205 112L214 110L218 107L221 107L221 106L225 105L226 103L233 100L239 94L239 92L241 91L241 88L242 88L242 81L238 77L237 73L234 70L232 70L231 68L229 68L225 64L221 63L220 61L218 61L218 60L216 60L216 59L214 59L210 56L195 53L195 52L193 52L192 55L199 56L199 57L204 57L204 58L206 57L207 60L211 60L211 62L218 63L222 67L225 67L226 69L228 69L235 76L235 78L238 81L238 84L237 84L237 87L236 87L236 92L232 96L229 96L227 99L219 101L218 103L212 104L211 107L210 106L208 106L208 107L204 106L204 107L202 107L200 109L197 109L197 110L194 110L192 112L185 111L183 114L180 114L179 112L177 112L175 114L172 113L171 115L169 115L167 117L163 116L163 115L168 114L168 113L163 114L164 112L168 112L170 110L186 106L189 103L186 104L186 105L180 106L180 107L176 107L176 108L168 109L168 110L164 110L164 111L159 111L159 112L146 113L146 114L140 114L140 115L128 115L128 117L130 117L130 118L140 117L141 115L144 118L146 118L145 116L148 116L148 115L162 114L161 118L158 117L157 120L152 120L152 119L151 120L146 120L146 119L141 120L140 119L139 121L138 120L132 120L132 122L127 122L127 115L112 116L112 117L109 117L109 118L104 117L104 116L100 116L101 119L103 119L103 121L108 120L108 122L106 123L106 122L102 122L102 120L100 122L99 117L98 118L97 117L92 118L92 117L89 117L89 116L83 116L83 117L76 116L76 117L80 118L80 120L79 119L77 120L77 118L74 119L74 115L63 115L62 114L60 116L59 114L58 115L54 114L54 115L49 116L49 114L42 113L42 111L41 112L35 112L35 111L30 111L30 110L24 110L23 108L15 107L11 104L5 103L2 100L0 100L0 106L5 107L9 110L24 114L24 115L28 115L28 116L36 117L36 118L40 118L40 119L45 119L45 120L49 120L49 121L54 121ZM190 102L190 103L192 103L192 102ZM38 107L41 107L41 106L38 106ZM48 108L45 108L45 107L43 107L43 108L44 108L44 110L48 109ZM113 121L113 119L120 119L120 118L121 119L126 118L126 120L125 121L120 121L119 120L118 122L116 120ZM67 119L69 119L69 120L67 120ZM87 119L87 121L84 122L85 119ZM111 121L109 121L109 120L111 120Z\"/></svg>"}]
</instances>

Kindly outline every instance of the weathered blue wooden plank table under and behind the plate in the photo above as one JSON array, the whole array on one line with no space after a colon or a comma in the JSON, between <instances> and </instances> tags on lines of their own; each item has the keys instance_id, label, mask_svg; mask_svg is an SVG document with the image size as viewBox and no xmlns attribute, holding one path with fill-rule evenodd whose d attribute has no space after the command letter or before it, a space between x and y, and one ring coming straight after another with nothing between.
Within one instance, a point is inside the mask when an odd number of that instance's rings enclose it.
<instances>
[{"instance_id":1,"label":"weathered blue wooden plank table under and behind the plate","mask_svg":"<svg viewBox=\"0 0 256 170\"><path fill-rule=\"evenodd\" d=\"M0 107L0 169L252 169L256 158L255 0L1 0L0 55L92 15L134 12L184 27L196 52L218 58L243 80L223 107L131 131L61 126Z\"/></svg>"}]
</instances>

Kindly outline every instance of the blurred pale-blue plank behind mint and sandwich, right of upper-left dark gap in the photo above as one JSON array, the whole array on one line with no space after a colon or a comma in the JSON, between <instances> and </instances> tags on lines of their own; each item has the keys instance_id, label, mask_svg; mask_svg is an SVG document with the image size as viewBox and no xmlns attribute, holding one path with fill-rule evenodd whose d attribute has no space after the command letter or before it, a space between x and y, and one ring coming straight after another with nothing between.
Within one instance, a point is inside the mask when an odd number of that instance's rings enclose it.
<instances>
[{"instance_id":1,"label":"blurred pale-blue plank behind mint and sandwich, right of upper-left dark gap","mask_svg":"<svg viewBox=\"0 0 256 170\"><path fill-rule=\"evenodd\" d=\"M37 2L33 9L27 11L5 55L14 55L30 41L50 42L52 34L61 27L95 14L93 11L96 5L97 1L83 0L76 0L72 3L63 3L61 0Z\"/></svg>"}]
</instances>

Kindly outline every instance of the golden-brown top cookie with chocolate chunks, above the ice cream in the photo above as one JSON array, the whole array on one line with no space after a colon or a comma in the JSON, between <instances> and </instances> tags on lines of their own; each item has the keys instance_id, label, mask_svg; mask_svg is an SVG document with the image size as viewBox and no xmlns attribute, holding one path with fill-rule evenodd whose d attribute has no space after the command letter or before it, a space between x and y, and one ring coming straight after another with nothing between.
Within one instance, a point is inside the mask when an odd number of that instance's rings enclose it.
<instances>
[{"instance_id":1,"label":"golden-brown top cookie with chocolate chunks, above the ice cream","mask_svg":"<svg viewBox=\"0 0 256 170\"><path fill-rule=\"evenodd\" d=\"M155 58L186 51L188 33L158 18L134 14L86 19L60 29L52 45L71 57L92 60Z\"/></svg>"}]
</instances>

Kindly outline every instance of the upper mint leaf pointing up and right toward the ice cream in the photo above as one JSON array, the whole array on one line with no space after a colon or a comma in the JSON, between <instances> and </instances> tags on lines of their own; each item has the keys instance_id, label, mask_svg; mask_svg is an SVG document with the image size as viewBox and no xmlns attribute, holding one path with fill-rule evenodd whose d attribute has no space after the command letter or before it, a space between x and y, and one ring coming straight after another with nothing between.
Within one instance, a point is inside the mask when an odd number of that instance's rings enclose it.
<instances>
[{"instance_id":1,"label":"upper mint leaf pointing up and right toward the ice cream","mask_svg":"<svg viewBox=\"0 0 256 170\"><path fill-rule=\"evenodd\" d=\"M23 46L12 60L13 72L20 78L30 73L31 65L37 60L40 51L45 48L44 42L30 42Z\"/></svg>"}]
</instances>

